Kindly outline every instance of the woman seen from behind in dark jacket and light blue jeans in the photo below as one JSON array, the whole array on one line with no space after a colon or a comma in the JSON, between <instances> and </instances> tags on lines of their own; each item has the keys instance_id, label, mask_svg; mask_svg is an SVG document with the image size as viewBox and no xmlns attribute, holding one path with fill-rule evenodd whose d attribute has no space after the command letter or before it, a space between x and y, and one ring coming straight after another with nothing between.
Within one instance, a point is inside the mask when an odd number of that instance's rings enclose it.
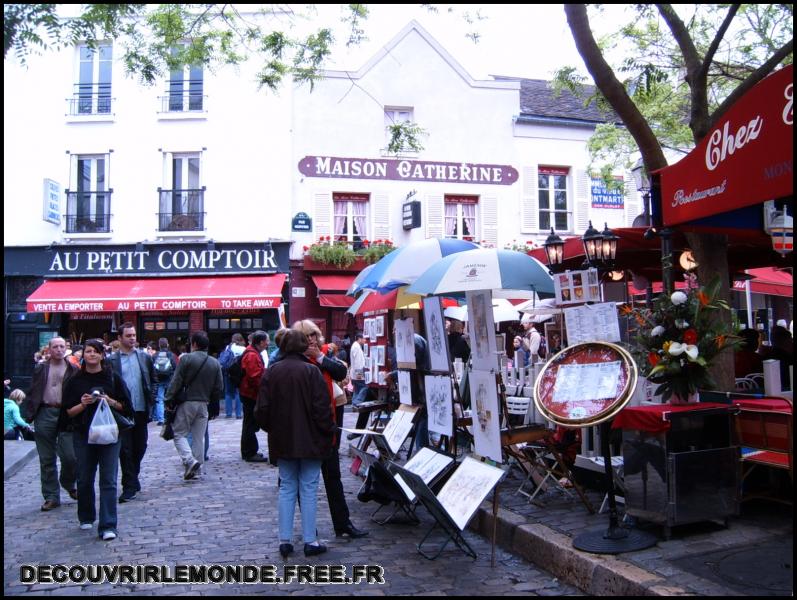
<instances>
[{"instance_id":1,"label":"woman seen from behind in dark jacket and light blue jeans","mask_svg":"<svg viewBox=\"0 0 797 600\"><path fill-rule=\"evenodd\" d=\"M321 371L304 356L307 346L307 336L302 332L285 333L280 343L283 358L263 373L257 401L258 423L268 432L269 457L280 470L279 539L283 558L293 552L297 496L301 499L305 556L327 549L318 542L316 506L321 463L332 450L335 424Z\"/></svg>"}]
</instances>

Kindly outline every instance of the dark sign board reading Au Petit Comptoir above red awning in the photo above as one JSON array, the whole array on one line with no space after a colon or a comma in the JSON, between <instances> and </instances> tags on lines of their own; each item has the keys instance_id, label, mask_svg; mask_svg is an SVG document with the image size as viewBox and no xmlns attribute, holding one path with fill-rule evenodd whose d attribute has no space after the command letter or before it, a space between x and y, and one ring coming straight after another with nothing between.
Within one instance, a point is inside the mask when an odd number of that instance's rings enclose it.
<instances>
[{"instance_id":1,"label":"dark sign board reading Au Petit Comptoir above red awning","mask_svg":"<svg viewBox=\"0 0 797 600\"><path fill-rule=\"evenodd\" d=\"M6 275L131 276L287 273L290 243L7 248Z\"/></svg>"}]
</instances>

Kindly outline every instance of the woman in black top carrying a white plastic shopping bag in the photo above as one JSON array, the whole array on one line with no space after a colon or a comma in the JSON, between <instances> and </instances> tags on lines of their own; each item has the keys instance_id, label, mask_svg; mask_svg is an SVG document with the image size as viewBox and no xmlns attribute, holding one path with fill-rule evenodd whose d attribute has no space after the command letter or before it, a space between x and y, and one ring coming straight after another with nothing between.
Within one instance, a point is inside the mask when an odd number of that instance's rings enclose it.
<instances>
[{"instance_id":1,"label":"woman in black top carrying a white plastic shopping bag","mask_svg":"<svg viewBox=\"0 0 797 600\"><path fill-rule=\"evenodd\" d=\"M62 424L74 430L80 528L88 530L94 526L97 516L94 479L99 467L98 534L107 541L116 538L116 478L121 448L113 411L133 418L133 405L127 387L106 365L104 356L102 340L86 342L80 372L64 389L61 414Z\"/></svg>"}]
</instances>

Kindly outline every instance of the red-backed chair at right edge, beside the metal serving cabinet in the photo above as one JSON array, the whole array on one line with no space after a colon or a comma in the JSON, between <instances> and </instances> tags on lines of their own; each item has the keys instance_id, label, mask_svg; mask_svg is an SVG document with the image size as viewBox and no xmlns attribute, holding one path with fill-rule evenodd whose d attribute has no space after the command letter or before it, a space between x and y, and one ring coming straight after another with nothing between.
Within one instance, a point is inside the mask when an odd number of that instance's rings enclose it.
<instances>
[{"instance_id":1,"label":"red-backed chair at right edge, beside the metal serving cabinet","mask_svg":"<svg viewBox=\"0 0 797 600\"><path fill-rule=\"evenodd\" d=\"M742 502L766 498L792 505L790 496L779 498L774 490L746 492L744 481L756 467L769 467L787 471L794 485L793 426L794 415L788 411L742 408L734 417L736 442L742 446Z\"/></svg>"}]
</instances>

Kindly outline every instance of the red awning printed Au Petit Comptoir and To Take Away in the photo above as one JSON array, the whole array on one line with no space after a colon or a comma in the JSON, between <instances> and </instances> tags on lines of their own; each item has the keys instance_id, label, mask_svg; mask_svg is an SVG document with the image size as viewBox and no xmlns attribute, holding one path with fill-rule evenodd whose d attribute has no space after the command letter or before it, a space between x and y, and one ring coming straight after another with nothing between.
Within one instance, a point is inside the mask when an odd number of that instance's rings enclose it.
<instances>
[{"instance_id":1,"label":"red awning printed Au Petit Comptoir and To Take Away","mask_svg":"<svg viewBox=\"0 0 797 600\"><path fill-rule=\"evenodd\" d=\"M28 312L277 308L284 283L284 274L45 281L27 303Z\"/></svg>"}]
</instances>

